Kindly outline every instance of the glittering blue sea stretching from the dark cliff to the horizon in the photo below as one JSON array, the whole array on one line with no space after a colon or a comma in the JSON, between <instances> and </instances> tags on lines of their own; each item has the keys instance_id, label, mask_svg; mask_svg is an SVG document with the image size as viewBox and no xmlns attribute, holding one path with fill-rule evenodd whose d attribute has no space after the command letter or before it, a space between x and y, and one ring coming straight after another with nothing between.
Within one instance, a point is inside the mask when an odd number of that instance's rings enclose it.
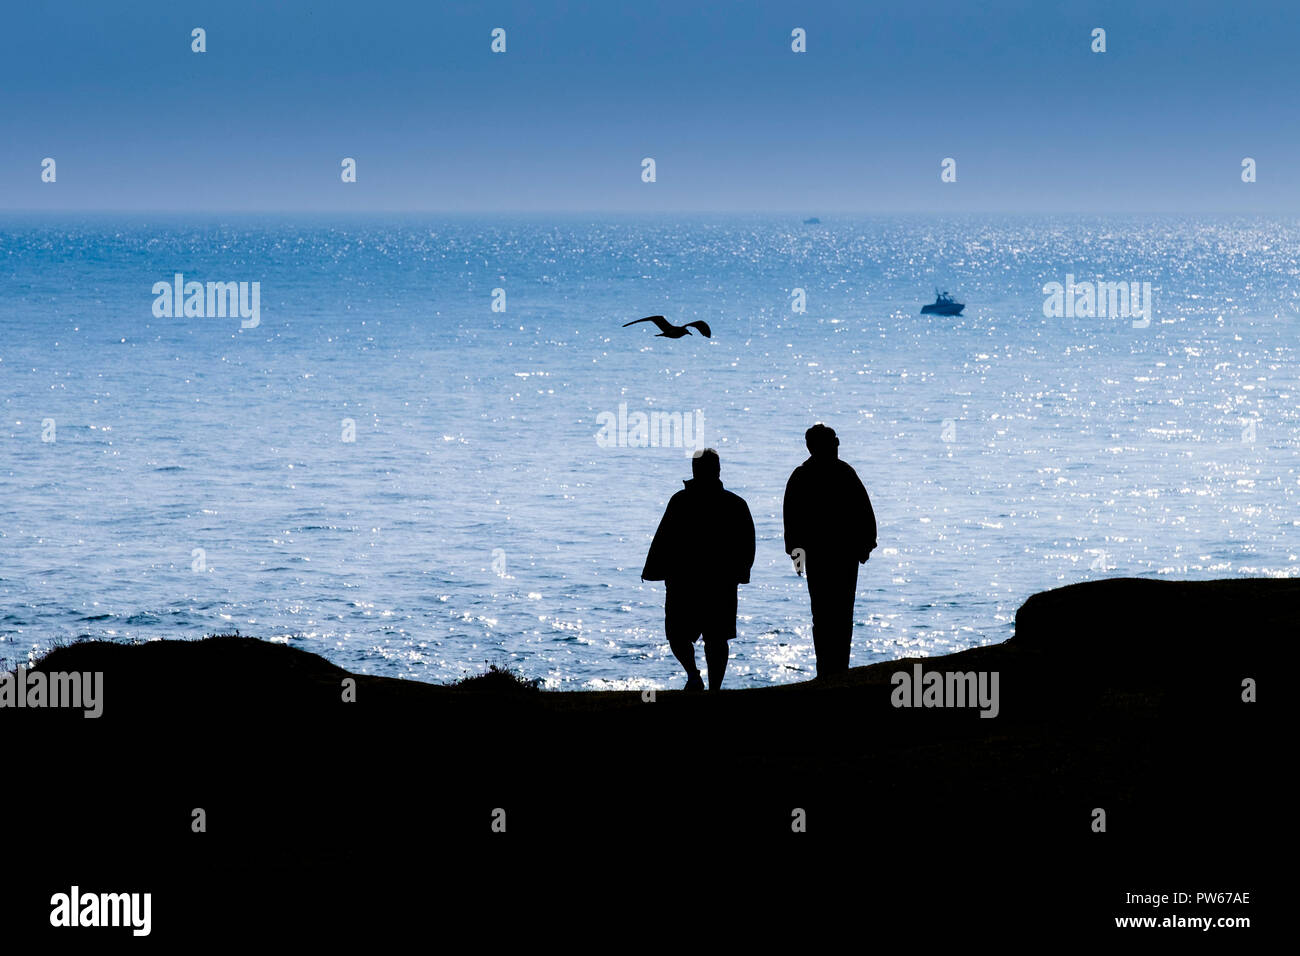
<instances>
[{"instance_id":1,"label":"glittering blue sea stretching from the dark cliff to the horizon","mask_svg":"<svg viewBox=\"0 0 1300 956\"><path fill-rule=\"evenodd\" d=\"M1076 581L1300 574L1300 221L810 217L0 216L0 658L238 632L680 687L640 575L711 446L758 533L727 685L806 680L816 421L880 528L854 665ZM256 321L176 315L178 274L257 284ZM1052 303L1097 282L1149 298Z\"/></svg>"}]
</instances>

